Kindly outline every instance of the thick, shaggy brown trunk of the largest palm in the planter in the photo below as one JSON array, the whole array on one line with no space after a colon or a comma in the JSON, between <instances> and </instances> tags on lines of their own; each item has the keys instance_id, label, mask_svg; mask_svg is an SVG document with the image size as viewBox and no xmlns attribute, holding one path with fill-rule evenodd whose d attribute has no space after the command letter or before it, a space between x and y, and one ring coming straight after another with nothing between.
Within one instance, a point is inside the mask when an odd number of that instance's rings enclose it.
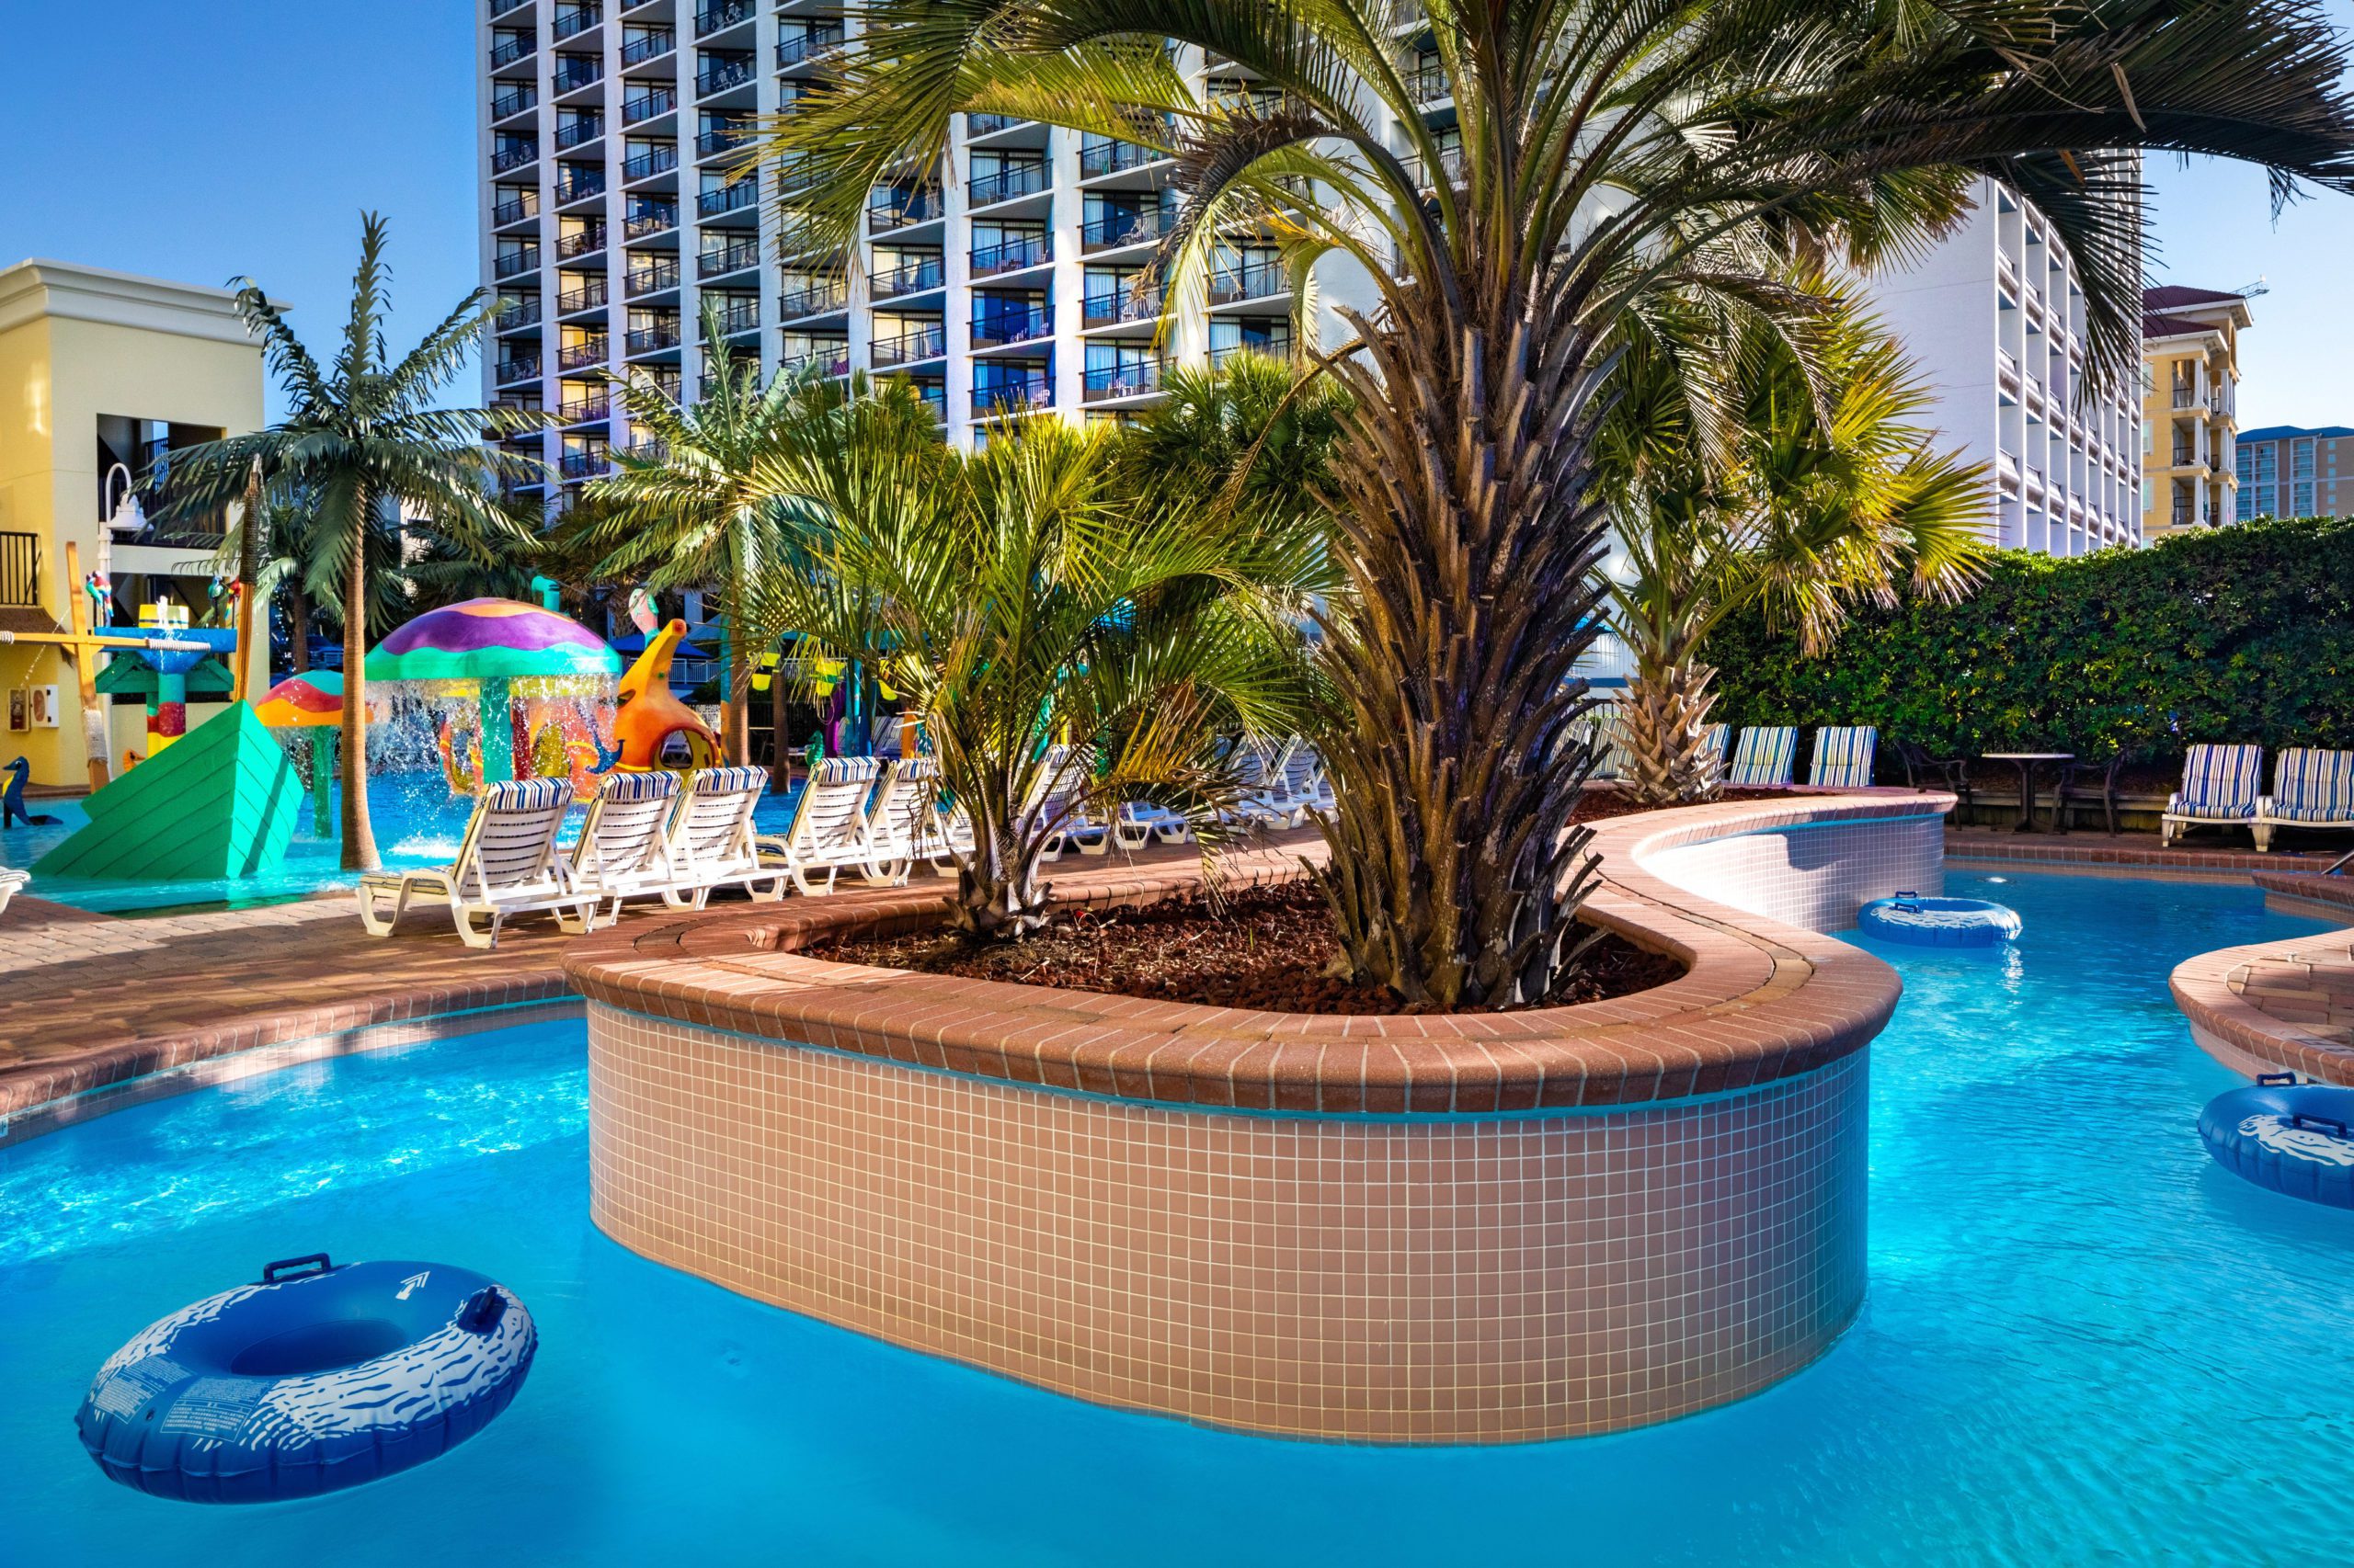
<instances>
[{"instance_id":1,"label":"thick, shaggy brown trunk of the largest palm in the planter","mask_svg":"<svg viewBox=\"0 0 2354 1568\"><path fill-rule=\"evenodd\" d=\"M1438 1008L1537 1001L1575 963L1594 756L1572 666L1603 629L1591 337L1511 280L1459 287L1424 285L1396 323L1349 313L1370 365L1337 365L1356 610L1328 638L1344 711L1318 871L1351 977Z\"/></svg>"}]
</instances>

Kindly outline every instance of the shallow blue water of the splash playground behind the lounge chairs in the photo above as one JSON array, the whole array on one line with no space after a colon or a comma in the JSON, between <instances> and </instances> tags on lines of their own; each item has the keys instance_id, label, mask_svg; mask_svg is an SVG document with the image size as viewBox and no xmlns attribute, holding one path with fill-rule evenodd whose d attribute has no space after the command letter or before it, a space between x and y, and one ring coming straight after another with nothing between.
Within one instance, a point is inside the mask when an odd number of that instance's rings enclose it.
<instances>
[{"instance_id":1,"label":"shallow blue water of the splash playground behind the lounge chairs","mask_svg":"<svg viewBox=\"0 0 2354 1568\"><path fill-rule=\"evenodd\" d=\"M341 796L341 791L337 791ZM31 866L35 859L66 843L85 826L80 798L28 800L42 817L56 817L49 826L0 829L0 866ZM457 855L466 836L466 817L473 798L452 798L450 786L438 775L403 777L388 775L367 789L370 819L377 831L377 852L386 869L443 866ZM756 822L763 833L782 833L791 826L791 796L767 796L760 800ZM344 845L327 817L327 836L311 833L311 798L304 796L301 817L287 857L259 876L212 878L212 881L85 881L64 876L38 876L28 895L54 904L73 904L99 913L153 913L188 906L250 906L282 904L315 892L351 888L360 881L355 871L344 871ZM579 833L581 810L574 808L565 822L563 841Z\"/></svg>"}]
</instances>

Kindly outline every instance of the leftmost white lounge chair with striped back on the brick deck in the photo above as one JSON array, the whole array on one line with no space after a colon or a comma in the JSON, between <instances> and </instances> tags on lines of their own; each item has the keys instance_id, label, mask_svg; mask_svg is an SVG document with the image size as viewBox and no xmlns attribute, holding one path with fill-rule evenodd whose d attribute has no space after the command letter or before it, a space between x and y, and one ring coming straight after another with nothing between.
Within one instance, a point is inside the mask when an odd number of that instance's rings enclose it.
<instances>
[{"instance_id":1,"label":"leftmost white lounge chair with striped back on the brick deck","mask_svg":"<svg viewBox=\"0 0 2354 1568\"><path fill-rule=\"evenodd\" d=\"M419 895L450 904L466 946L499 946L499 928L508 916L541 909L572 911L586 925L598 899L572 885L572 869L556 850L556 833L570 808L572 779L492 784L476 803L466 838L447 866L370 871L360 878L360 925L374 937L391 937L410 899ZM487 930L476 925L485 916Z\"/></svg>"}]
</instances>

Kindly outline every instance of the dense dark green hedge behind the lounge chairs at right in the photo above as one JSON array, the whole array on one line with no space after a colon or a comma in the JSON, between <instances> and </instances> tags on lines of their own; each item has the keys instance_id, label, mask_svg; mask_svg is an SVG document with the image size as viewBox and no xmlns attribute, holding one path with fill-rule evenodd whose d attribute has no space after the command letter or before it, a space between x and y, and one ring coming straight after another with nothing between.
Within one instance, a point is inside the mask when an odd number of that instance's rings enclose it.
<instances>
[{"instance_id":1,"label":"dense dark green hedge behind the lounge chairs at right","mask_svg":"<svg viewBox=\"0 0 2354 1568\"><path fill-rule=\"evenodd\" d=\"M1707 657L1718 718L1871 723L1940 756L2354 749L2354 518L2076 560L2003 551L1968 600L1864 610L1822 659L1754 614Z\"/></svg>"}]
</instances>

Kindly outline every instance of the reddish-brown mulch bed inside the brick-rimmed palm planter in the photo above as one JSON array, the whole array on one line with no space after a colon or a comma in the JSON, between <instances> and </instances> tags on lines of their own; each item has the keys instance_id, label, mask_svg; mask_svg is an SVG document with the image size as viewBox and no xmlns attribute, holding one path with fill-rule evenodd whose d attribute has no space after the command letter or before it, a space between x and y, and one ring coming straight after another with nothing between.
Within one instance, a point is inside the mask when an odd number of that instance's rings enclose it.
<instances>
[{"instance_id":1,"label":"reddish-brown mulch bed inside the brick-rimmed palm planter","mask_svg":"<svg viewBox=\"0 0 2354 1568\"><path fill-rule=\"evenodd\" d=\"M807 949L812 958L871 963L923 975L1005 979L1066 991L1264 1012L1438 1012L1379 986L1323 975L1339 951L1332 911L1311 883L1243 888L1212 904L1203 895L1142 909L1073 909L1024 942L972 946L953 932L852 937ZM1605 1001L1662 986L1683 963L1605 932L1580 972L1544 1008ZM1467 1008L1497 1012L1499 1008Z\"/></svg>"}]
</instances>

